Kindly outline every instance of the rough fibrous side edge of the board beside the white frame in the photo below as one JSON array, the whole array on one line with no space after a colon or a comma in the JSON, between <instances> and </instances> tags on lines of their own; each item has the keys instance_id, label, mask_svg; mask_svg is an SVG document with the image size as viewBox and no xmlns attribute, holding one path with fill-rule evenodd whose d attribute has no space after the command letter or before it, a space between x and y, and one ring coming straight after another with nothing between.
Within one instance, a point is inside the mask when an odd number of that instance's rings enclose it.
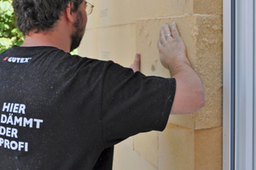
<instances>
[{"instance_id":1,"label":"rough fibrous side edge of the board beside the white frame","mask_svg":"<svg viewBox=\"0 0 256 170\"><path fill-rule=\"evenodd\" d=\"M197 58L195 71L200 75L206 93L206 105L194 114L195 129L222 126L222 17L197 17Z\"/></svg>"}]
</instances>

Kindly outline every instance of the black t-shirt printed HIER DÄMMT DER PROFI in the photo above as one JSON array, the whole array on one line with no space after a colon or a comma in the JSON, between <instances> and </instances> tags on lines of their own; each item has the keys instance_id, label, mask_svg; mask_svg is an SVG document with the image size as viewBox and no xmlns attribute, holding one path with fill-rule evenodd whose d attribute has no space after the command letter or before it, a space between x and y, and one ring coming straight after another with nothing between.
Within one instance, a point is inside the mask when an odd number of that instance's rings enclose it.
<instances>
[{"instance_id":1,"label":"black t-shirt printed HIER D\u00c4MMT DER PROFI","mask_svg":"<svg viewBox=\"0 0 256 170\"><path fill-rule=\"evenodd\" d=\"M175 79L53 47L0 54L0 169L111 169L113 145L166 127Z\"/></svg>"}]
</instances>

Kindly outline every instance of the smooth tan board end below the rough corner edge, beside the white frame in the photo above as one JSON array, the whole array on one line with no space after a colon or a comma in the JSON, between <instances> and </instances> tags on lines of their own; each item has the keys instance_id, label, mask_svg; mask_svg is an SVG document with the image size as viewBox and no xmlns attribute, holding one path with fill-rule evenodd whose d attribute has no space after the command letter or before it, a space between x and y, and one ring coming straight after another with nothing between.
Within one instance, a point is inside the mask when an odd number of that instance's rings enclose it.
<instances>
[{"instance_id":1,"label":"smooth tan board end below the rough corner edge, beside the white frame","mask_svg":"<svg viewBox=\"0 0 256 170\"><path fill-rule=\"evenodd\" d=\"M222 127L195 130L195 170L222 169Z\"/></svg>"}]
</instances>

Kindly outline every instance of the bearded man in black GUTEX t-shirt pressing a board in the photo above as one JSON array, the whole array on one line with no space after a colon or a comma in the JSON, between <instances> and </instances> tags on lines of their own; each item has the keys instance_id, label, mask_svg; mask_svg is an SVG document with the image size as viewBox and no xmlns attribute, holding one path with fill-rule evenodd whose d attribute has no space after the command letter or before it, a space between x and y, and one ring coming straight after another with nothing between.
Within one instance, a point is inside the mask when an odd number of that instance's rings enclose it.
<instances>
[{"instance_id":1,"label":"bearded man in black GUTEX t-shirt pressing a board","mask_svg":"<svg viewBox=\"0 0 256 170\"><path fill-rule=\"evenodd\" d=\"M14 0L21 47L0 54L1 169L111 169L113 145L162 131L170 114L204 103L177 26L160 29L172 78L145 77L112 61L70 55L84 35L83 0ZM174 98L175 95L175 98Z\"/></svg>"}]
</instances>

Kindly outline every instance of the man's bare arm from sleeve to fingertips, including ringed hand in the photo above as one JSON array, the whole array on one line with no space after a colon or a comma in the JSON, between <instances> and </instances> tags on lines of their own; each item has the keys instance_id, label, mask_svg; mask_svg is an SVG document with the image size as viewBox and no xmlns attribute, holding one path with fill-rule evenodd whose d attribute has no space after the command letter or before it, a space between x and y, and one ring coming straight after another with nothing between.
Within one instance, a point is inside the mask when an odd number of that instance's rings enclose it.
<instances>
[{"instance_id":1,"label":"man's bare arm from sleeve to fingertips, including ringed hand","mask_svg":"<svg viewBox=\"0 0 256 170\"><path fill-rule=\"evenodd\" d=\"M201 109L205 105L204 88L200 77L189 63L186 47L175 22L171 29L168 25L160 29L158 48L161 64L177 82L171 114L188 114Z\"/></svg>"}]
</instances>

